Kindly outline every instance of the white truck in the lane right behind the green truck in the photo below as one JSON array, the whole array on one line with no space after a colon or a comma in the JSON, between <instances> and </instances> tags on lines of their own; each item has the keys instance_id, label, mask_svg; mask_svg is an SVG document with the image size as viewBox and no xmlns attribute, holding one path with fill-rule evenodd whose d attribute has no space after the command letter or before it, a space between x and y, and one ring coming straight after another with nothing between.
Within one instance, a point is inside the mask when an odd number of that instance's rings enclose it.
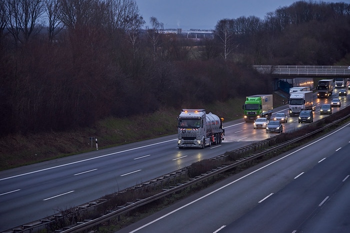
<instances>
[{"instance_id":1,"label":"white truck in the lane right behind the green truck","mask_svg":"<svg viewBox=\"0 0 350 233\"><path fill-rule=\"evenodd\" d=\"M297 91L289 96L289 116L299 115L302 110L312 110L313 108L313 92Z\"/></svg>"}]
</instances>

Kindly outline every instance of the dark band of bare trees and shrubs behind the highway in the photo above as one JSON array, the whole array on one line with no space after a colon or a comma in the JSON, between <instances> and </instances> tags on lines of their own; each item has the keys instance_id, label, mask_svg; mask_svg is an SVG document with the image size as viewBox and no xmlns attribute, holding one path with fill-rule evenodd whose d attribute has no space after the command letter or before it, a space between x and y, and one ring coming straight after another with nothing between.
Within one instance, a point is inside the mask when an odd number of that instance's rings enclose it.
<instances>
[{"instance_id":1,"label":"dark band of bare trees and shrubs behind the highway","mask_svg":"<svg viewBox=\"0 0 350 233\"><path fill-rule=\"evenodd\" d=\"M149 27L134 0L0 0L0 134L271 92L251 64L349 63L350 5L224 18L213 39Z\"/></svg>"}]
</instances>

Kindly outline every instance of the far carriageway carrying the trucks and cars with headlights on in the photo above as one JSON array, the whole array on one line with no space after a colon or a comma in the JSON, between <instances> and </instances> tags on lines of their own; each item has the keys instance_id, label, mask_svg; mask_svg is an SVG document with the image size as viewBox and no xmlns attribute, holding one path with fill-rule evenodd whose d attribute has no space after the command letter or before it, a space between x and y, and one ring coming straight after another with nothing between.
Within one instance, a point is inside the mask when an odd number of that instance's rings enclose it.
<instances>
[{"instance_id":1,"label":"far carriageway carrying the trucks and cars with headlights on","mask_svg":"<svg viewBox=\"0 0 350 233\"><path fill-rule=\"evenodd\" d=\"M337 89L334 89L333 96L337 97ZM347 96L340 99L341 108L346 107ZM330 100L331 97L314 99L314 121L326 117L319 115L319 107ZM338 109L334 107L333 113ZM275 108L274 113L287 113L287 110L287 105L284 105ZM297 117L289 117L283 124L283 132L301 126L303 124L297 123ZM244 123L243 119L224 122L223 127L225 140L204 150L179 150L177 136L170 135L2 171L0 231L57 214L193 162L273 136L266 134L264 129L254 130L252 123Z\"/></svg>"}]
</instances>

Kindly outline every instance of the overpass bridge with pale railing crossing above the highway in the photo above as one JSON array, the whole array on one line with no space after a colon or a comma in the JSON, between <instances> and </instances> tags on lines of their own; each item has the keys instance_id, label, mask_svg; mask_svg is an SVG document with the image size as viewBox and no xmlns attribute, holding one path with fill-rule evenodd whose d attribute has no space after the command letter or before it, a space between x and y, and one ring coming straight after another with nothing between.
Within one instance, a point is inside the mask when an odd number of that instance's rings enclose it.
<instances>
[{"instance_id":1,"label":"overpass bridge with pale railing crossing above the highway","mask_svg":"<svg viewBox=\"0 0 350 233\"><path fill-rule=\"evenodd\" d=\"M348 76L350 66L326 65L253 65L260 73L275 75L305 75L305 76Z\"/></svg>"}]
</instances>

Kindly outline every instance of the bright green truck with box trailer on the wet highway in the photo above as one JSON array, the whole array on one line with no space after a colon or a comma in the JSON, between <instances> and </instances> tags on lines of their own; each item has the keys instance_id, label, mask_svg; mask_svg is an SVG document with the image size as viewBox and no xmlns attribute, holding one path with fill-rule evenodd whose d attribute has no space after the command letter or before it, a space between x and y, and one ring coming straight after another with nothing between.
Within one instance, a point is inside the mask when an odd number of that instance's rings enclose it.
<instances>
[{"instance_id":1,"label":"bright green truck with box trailer on the wet highway","mask_svg":"<svg viewBox=\"0 0 350 233\"><path fill-rule=\"evenodd\" d=\"M254 121L259 117L271 118L273 113L272 95L250 95L243 104L244 121Z\"/></svg>"}]
</instances>

